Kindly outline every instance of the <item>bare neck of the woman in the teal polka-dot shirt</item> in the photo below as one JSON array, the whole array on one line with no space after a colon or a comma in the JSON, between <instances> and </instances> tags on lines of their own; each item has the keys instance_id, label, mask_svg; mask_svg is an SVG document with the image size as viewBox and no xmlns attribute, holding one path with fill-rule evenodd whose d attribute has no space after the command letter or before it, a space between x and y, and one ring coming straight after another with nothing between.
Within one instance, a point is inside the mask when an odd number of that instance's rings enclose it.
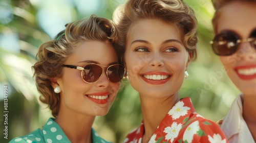
<instances>
[{"instance_id":1,"label":"bare neck of the woman in the teal polka-dot shirt","mask_svg":"<svg viewBox=\"0 0 256 143\"><path fill-rule=\"evenodd\" d=\"M59 112L55 122L71 142L92 142L91 129L95 116Z\"/></svg>"}]
</instances>

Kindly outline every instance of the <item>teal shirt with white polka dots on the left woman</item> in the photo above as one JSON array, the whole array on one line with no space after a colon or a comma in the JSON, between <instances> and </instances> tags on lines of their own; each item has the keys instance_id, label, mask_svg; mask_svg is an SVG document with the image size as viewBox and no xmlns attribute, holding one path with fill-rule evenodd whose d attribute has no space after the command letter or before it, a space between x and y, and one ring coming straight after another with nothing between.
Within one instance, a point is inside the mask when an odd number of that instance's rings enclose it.
<instances>
[{"instance_id":1,"label":"teal shirt with white polka dots on the left woman","mask_svg":"<svg viewBox=\"0 0 256 143\"><path fill-rule=\"evenodd\" d=\"M13 138L9 143L27 143L27 142L47 142L47 143L70 143L71 141L65 135L60 126L54 122L54 118L49 118L44 127L36 129L25 136ZM110 143L101 138L98 133L92 128L92 140L95 143Z\"/></svg>"}]
</instances>

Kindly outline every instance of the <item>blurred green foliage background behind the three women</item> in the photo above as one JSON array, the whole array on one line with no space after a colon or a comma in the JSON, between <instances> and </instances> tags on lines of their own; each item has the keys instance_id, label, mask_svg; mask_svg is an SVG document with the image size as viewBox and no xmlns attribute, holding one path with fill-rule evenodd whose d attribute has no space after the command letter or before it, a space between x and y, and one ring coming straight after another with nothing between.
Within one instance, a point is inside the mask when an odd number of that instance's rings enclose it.
<instances>
[{"instance_id":1,"label":"blurred green foliage background behind the three women","mask_svg":"<svg viewBox=\"0 0 256 143\"><path fill-rule=\"evenodd\" d=\"M185 1L185 0L184 0ZM37 48L53 39L65 24L96 14L112 19L114 9L125 0L1 0L0 1L0 112L4 114L4 86L8 86L8 139L5 117L0 116L0 142L9 142L43 126L51 112L38 100L31 66ZM198 19L198 59L188 68L180 97L190 97L196 111L212 121L228 112L239 91L228 80L219 57L211 51L214 37L210 0L186 0ZM142 120L138 92L129 81L122 83L116 101L93 127L101 137L122 142Z\"/></svg>"}]
</instances>

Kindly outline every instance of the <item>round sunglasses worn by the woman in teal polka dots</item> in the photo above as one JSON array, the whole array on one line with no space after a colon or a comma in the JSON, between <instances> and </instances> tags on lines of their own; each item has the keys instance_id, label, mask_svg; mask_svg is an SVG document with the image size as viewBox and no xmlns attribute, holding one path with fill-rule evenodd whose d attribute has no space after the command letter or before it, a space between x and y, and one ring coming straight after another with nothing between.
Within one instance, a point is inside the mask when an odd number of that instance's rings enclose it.
<instances>
[{"instance_id":1,"label":"round sunglasses worn by the woman in teal polka dots","mask_svg":"<svg viewBox=\"0 0 256 143\"><path fill-rule=\"evenodd\" d=\"M97 82L102 76L102 73L103 73L102 67L108 67L106 68L106 77L108 77L108 79L114 83L121 81L125 71L125 68L121 64L104 66L104 65L99 65L95 63L90 63L87 65L84 65L83 67L63 64L62 67L69 67L69 68L82 70L81 76L83 81L86 83Z\"/></svg>"}]
</instances>

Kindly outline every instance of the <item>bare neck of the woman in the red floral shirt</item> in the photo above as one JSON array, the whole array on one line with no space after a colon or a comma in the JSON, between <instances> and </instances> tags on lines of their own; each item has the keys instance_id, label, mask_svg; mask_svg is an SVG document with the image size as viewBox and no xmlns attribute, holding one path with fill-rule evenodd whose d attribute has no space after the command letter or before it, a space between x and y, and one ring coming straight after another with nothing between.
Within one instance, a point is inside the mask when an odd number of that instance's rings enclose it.
<instances>
[{"instance_id":1,"label":"bare neck of the woman in the red floral shirt","mask_svg":"<svg viewBox=\"0 0 256 143\"><path fill-rule=\"evenodd\" d=\"M166 98L149 98L140 95L144 122L142 142L148 142L167 112L179 101L178 93Z\"/></svg>"}]
</instances>

